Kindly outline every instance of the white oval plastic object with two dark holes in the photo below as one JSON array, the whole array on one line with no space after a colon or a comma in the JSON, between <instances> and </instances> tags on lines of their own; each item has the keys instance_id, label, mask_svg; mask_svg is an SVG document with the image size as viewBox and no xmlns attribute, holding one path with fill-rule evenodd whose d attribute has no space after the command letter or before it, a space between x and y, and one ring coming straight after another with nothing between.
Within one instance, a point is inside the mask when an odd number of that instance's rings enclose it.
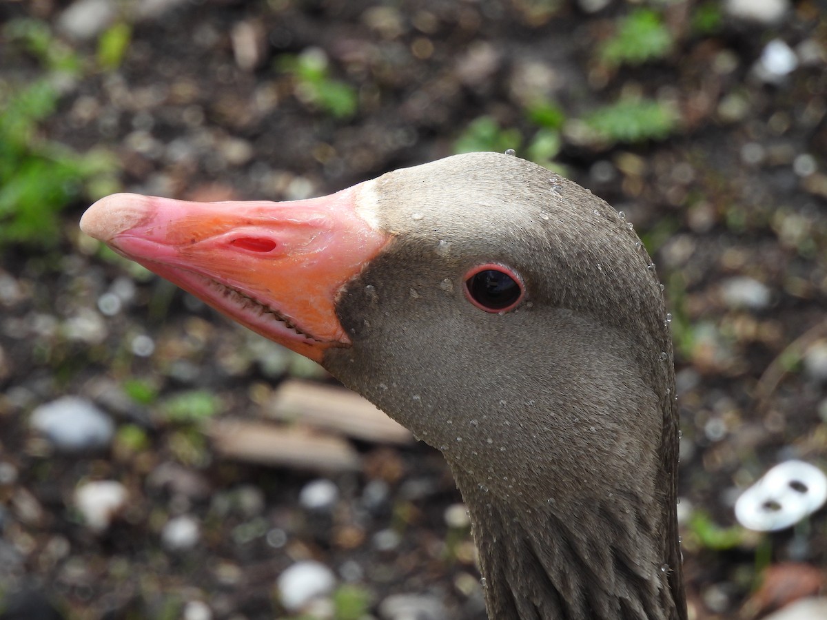
<instances>
[{"instance_id":1,"label":"white oval plastic object with two dark holes","mask_svg":"<svg viewBox=\"0 0 827 620\"><path fill-rule=\"evenodd\" d=\"M743 527L772 532L791 527L827 500L827 476L803 460L787 460L767 471L735 503Z\"/></svg>"}]
</instances>

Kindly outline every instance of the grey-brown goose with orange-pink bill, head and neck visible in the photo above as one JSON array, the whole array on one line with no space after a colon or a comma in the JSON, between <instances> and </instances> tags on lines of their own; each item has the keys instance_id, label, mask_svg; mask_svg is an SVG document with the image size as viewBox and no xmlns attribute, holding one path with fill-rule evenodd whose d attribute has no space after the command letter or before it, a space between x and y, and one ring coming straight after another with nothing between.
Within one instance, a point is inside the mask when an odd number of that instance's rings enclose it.
<instances>
[{"instance_id":1,"label":"grey-brown goose with orange-pink bill, head and neck visible","mask_svg":"<svg viewBox=\"0 0 827 620\"><path fill-rule=\"evenodd\" d=\"M588 190L476 153L294 202L115 194L81 227L442 451L492 620L686 620L662 288Z\"/></svg>"}]
</instances>

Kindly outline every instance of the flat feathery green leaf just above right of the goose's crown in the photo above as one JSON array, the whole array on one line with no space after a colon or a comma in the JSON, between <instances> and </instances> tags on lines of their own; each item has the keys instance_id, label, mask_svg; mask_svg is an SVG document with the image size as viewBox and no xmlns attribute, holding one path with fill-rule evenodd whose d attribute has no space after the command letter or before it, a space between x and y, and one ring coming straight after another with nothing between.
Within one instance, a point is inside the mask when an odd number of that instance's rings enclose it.
<instances>
[{"instance_id":1,"label":"flat feathery green leaf just above right of the goose's crown","mask_svg":"<svg viewBox=\"0 0 827 620\"><path fill-rule=\"evenodd\" d=\"M672 106L655 99L627 96L583 118L596 141L643 142L663 140L676 129Z\"/></svg>"}]
</instances>

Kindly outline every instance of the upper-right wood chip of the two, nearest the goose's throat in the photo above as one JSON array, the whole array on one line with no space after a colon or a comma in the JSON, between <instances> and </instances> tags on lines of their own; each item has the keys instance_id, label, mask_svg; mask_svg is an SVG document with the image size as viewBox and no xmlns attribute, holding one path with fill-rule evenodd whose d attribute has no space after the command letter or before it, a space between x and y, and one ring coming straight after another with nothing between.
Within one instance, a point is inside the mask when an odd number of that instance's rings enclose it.
<instances>
[{"instance_id":1,"label":"upper-right wood chip of the two, nearest the goose's throat","mask_svg":"<svg viewBox=\"0 0 827 620\"><path fill-rule=\"evenodd\" d=\"M301 422L362 441L393 444L413 441L407 428L365 398L329 385L285 381L276 390L267 413L277 420Z\"/></svg>"}]
</instances>

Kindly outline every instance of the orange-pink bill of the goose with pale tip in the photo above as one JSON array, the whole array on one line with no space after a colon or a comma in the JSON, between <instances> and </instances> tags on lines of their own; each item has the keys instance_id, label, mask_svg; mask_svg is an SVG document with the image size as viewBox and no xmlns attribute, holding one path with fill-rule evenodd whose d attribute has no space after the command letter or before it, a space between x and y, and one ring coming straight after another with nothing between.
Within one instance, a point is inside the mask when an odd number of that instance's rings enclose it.
<instances>
[{"instance_id":1,"label":"orange-pink bill of the goose with pale tip","mask_svg":"<svg viewBox=\"0 0 827 620\"><path fill-rule=\"evenodd\" d=\"M337 293L390 236L356 207L359 186L287 203L189 203L117 193L81 219L88 235L262 336L320 362L350 340Z\"/></svg>"}]
</instances>

